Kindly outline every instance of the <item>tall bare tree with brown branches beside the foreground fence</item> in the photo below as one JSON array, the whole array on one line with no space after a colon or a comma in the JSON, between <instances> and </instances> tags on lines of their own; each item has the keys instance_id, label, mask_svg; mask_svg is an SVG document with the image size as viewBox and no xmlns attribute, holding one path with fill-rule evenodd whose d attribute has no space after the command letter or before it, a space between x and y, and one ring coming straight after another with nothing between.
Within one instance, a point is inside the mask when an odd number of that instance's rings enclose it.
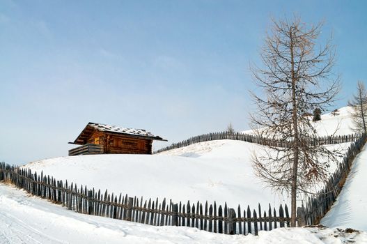
<instances>
[{"instance_id":1,"label":"tall bare tree with brown branches beside the foreground fence","mask_svg":"<svg viewBox=\"0 0 367 244\"><path fill-rule=\"evenodd\" d=\"M339 91L331 73L335 51L331 38L317 48L322 23L308 25L299 17L273 20L260 53L263 68L251 67L262 93L251 92L257 111L253 128L262 137L290 142L288 148L268 147L254 154L253 168L270 187L291 196L291 226L296 225L297 194L325 180L328 163L336 160L324 146L309 142L317 135L312 118L304 114L331 105ZM321 160L323 159L323 160Z\"/></svg>"}]
</instances>

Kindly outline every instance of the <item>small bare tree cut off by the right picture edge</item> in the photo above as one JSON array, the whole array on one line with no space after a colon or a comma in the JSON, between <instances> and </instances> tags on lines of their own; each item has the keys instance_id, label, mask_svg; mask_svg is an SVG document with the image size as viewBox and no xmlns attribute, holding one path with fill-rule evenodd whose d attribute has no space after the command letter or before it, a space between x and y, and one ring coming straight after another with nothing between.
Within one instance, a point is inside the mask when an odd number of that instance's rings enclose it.
<instances>
[{"instance_id":1,"label":"small bare tree cut off by the right picture edge","mask_svg":"<svg viewBox=\"0 0 367 244\"><path fill-rule=\"evenodd\" d=\"M353 98L348 105L353 108L352 119L354 123L353 130L355 132L366 133L366 120L367 120L367 91L363 82L357 84L357 95L353 95Z\"/></svg>"}]
</instances>

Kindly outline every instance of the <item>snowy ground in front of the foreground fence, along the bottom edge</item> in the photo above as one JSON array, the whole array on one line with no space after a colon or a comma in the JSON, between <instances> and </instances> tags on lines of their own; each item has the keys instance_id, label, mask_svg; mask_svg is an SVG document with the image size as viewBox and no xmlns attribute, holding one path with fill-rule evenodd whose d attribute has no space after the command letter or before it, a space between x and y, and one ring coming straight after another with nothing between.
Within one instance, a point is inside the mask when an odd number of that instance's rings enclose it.
<instances>
[{"instance_id":1,"label":"snowy ground in front of the foreground fence, along the bottom edge","mask_svg":"<svg viewBox=\"0 0 367 244\"><path fill-rule=\"evenodd\" d=\"M0 243L366 243L366 232L280 228L259 236L213 234L190 227L153 227L68 211L0 183Z\"/></svg>"}]
</instances>

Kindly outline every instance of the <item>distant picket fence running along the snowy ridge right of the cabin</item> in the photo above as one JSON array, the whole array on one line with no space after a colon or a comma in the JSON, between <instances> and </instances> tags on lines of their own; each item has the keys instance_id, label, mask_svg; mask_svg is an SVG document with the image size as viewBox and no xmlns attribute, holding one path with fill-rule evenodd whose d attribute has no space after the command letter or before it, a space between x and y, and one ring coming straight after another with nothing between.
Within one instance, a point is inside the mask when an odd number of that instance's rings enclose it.
<instances>
[{"instance_id":1,"label":"distant picket fence running along the snowy ridge right of the cabin","mask_svg":"<svg viewBox=\"0 0 367 244\"><path fill-rule=\"evenodd\" d=\"M325 136L325 137L315 137L310 138L309 142L307 142L309 145L326 145L326 144L340 144L345 142L355 142L357 139L361 137L360 133L350 134L350 135L331 135L331 136ZM231 140L237 140L237 141L243 141L243 142L250 142L250 143L256 143L260 145L265 146L276 146L276 147L289 147L290 142L282 141L282 140L274 140L269 139L266 137L259 137L257 135L250 135L250 134L242 134L240 132L231 133L228 131L224 132L214 132L214 133L208 133L204 135L198 135L196 137L191 137L189 139L186 139L182 142L173 143L170 146L166 146L164 148L160 148L159 150L155 151L154 153L162 153L163 151L169 151L171 149L175 148L181 148L184 146L189 146L192 144L196 144L198 142L209 142L214 140L221 140L221 139L231 139Z\"/></svg>"}]
</instances>

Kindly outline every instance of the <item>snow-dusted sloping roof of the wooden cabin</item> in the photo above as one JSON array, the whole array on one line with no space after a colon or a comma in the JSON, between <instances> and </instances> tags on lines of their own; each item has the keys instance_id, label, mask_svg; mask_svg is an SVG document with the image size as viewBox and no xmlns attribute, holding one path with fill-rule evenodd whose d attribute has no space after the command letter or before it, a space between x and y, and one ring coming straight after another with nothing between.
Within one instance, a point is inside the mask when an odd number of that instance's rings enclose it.
<instances>
[{"instance_id":1,"label":"snow-dusted sloping roof of the wooden cabin","mask_svg":"<svg viewBox=\"0 0 367 244\"><path fill-rule=\"evenodd\" d=\"M106 125L104 123L93 123L89 122L86 125L86 128L81 131L80 135L75 139L73 144L83 144L84 140L91 135L91 132L93 130L99 130L102 132L111 132L115 134L121 134L121 135L132 135L134 137L145 137L147 139L154 139L154 140L161 140L166 141L162 137L159 137L157 135L153 135L152 133L143 130L143 129L134 129L134 128L124 128L116 125Z\"/></svg>"}]
</instances>

